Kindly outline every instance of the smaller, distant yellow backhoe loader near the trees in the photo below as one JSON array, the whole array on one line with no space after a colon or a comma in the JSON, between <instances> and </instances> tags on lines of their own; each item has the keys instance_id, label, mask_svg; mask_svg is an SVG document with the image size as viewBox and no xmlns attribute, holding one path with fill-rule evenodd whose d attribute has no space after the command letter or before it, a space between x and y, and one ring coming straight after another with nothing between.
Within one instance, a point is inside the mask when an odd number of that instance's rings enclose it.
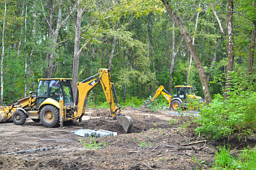
<instances>
[{"instance_id":1,"label":"smaller, distant yellow backhoe loader near the trees","mask_svg":"<svg viewBox=\"0 0 256 170\"><path fill-rule=\"evenodd\" d=\"M155 91L151 101L154 101L160 94L168 101L169 108L177 110L184 101L189 97L192 99L197 99L199 102L204 103L205 100L200 96L195 96L192 94L192 86L175 86L174 97L172 98L170 93L164 89L163 86L159 86Z\"/></svg>"}]
</instances>

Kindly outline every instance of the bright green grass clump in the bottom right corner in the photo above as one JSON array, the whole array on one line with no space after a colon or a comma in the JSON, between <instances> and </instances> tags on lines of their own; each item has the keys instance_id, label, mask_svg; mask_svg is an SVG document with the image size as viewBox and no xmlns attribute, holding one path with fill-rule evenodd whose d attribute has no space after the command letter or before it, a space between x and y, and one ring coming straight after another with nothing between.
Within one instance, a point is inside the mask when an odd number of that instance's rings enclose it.
<instances>
[{"instance_id":1,"label":"bright green grass clump in the bottom right corner","mask_svg":"<svg viewBox=\"0 0 256 170\"><path fill-rule=\"evenodd\" d=\"M215 169L255 169L256 150L250 147L245 148L235 157L229 153L230 147L219 147L215 153Z\"/></svg>"}]
</instances>

